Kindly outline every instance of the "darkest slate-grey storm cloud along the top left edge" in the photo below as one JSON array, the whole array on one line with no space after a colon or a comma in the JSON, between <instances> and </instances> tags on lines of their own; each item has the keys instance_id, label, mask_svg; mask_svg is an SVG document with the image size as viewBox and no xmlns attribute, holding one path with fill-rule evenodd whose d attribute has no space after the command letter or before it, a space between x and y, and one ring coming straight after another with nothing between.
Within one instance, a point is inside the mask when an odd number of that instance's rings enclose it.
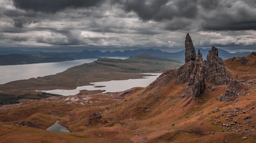
<instances>
[{"instance_id":1,"label":"darkest slate-grey storm cloud along the top left edge","mask_svg":"<svg viewBox=\"0 0 256 143\"><path fill-rule=\"evenodd\" d=\"M100 5L104 0L13 0L15 7L26 11L56 13L68 7L88 8Z\"/></svg>"}]
</instances>

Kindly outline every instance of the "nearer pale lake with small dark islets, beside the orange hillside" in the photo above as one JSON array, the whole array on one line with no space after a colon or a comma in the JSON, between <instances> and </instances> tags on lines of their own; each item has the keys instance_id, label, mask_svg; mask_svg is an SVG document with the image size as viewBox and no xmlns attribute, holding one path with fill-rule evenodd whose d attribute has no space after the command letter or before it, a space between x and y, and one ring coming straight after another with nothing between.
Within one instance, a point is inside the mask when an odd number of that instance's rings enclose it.
<instances>
[{"instance_id":1,"label":"nearer pale lake with small dark islets, beside the orange hillside","mask_svg":"<svg viewBox=\"0 0 256 143\"><path fill-rule=\"evenodd\" d=\"M146 74L146 73L144 73ZM47 93L59 94L59 95L76 95L81 90L105 90L103 93L107 92L119 92L125 91L127 89L131 89L132 87L146 87L151 82L157 79L161 73L152 73L150 75L154 76L144 76L143 78L138 79L128 79L128 80L111 80L111 81L104 81L104 82L92 82L92 85L86 85L82 87L77 87L73 90L63 90L63 89L55 89L55 90L48 90L43 91Z\"/></svg>"}]
</instances>

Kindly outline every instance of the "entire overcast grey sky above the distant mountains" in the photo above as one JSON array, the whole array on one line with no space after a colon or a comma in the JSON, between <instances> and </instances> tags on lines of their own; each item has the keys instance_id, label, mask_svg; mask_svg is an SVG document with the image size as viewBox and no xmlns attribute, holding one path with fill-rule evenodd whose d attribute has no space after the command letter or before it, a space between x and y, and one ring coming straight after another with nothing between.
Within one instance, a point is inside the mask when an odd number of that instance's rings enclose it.
<instances>
[{"instance_id":1,"label":"entire overcast grey sky above the distant mountains","mask_svg":"<svg viewBox=\"0 0 256 143\"><path fill-rule=\"evenodd\" d=\"M255 0L0 0L0 48L256 51Z\"/></svg>"}]
</instances>

